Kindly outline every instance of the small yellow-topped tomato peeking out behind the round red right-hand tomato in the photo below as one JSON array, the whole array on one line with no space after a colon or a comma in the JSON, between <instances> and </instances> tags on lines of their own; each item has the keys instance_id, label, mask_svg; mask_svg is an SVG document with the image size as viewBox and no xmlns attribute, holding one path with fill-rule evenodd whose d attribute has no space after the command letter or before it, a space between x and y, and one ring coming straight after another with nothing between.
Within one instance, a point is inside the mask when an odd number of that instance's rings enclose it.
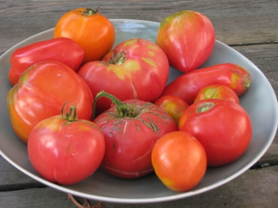
<instances>
[{"instance_id":1,"label":"small yellow-topped tomato peeking out behind the round red right-hand tomato","mask_svg":"<svg viewBox=\"0 0 278 208\"><path fill-rule=\"evenodd\" d=\"M236 92L234 92L231 87L227 87L225 85L208 85L204 87L197 94L194 103L209 98L224 99L234 101L239 104L239 98Z\"/></svg>"}]
</instances>

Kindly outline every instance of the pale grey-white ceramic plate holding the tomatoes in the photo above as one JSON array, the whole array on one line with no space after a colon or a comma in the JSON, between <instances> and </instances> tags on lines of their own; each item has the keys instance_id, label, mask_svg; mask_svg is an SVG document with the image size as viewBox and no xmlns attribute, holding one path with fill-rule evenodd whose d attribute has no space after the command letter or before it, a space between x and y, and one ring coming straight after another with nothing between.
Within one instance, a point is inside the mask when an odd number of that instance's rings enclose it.
<instances>
[{"instance_id":1,"label":"pale grey-white ceramic plate holding the tomatoes","mask_svg":"<svg viewBox=\"0 0 278 208\"><path fill-rule=\"evenodd\" d=\"M136 37L155 41L159 26L156 22L130 19L111 19L111 21L116 31L115 44ZM191 191L184 193L167 189L154 173L135 180L124 180L99 169L88 179L71 186L59 186L47 182L35 172L28 160L26 144L13 132L6 107L6 96L11 87L8 81L10 55L18 47L51 39L53 32L54 29L50 29L29 37L13 46L0 58L0 153L10 164L42 184L65 193L72 193L74 196L107 202L149 203L177 200L195 196L233 180L263 156L275 137L278 114L277 98L267 78L250 60L222 42L216 41L211 58L202 67L233 62L245 67L252 76L251 87L245 95L240 97L240 104L250 114L254 131L251 144L240 159L227 166L208 168L202 182ZM180 74L171 69L168 83Z\"/></svg>"}]
</instances>

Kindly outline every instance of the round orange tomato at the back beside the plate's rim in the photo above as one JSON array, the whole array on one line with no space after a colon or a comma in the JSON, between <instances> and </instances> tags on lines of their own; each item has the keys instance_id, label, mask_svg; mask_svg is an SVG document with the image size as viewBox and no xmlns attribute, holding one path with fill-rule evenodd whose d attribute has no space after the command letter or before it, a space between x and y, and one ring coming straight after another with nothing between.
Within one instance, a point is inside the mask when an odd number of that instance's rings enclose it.
<instances>
[{"instance_id":1,"label":"round orange tomato at the back beside the plate's rim","mask_svg":"<svg viewBox=\"0 0 278 208\"><path fill-rule=\"evenodd\" d=\"M60 17L54 28L54 37L70 37L79 44L85 53L84 64L101 60L112 49L115 29L111 21L99 11L76 8Z\"/></svg>"}]
</instances>

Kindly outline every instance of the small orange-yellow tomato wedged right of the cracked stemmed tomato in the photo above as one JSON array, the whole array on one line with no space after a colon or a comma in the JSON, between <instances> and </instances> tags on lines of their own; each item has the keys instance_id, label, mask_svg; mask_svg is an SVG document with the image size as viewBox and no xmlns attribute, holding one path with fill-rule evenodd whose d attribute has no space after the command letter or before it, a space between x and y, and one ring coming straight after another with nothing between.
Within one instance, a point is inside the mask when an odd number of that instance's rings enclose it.
<instances>
[{"instance_id":1,"label":"small orange-yellow tomato wedged right of the cracked stemmed tomato","mask_svg":"<svg viewBox=\"0 0 278 208\"><path fill-rule=\"evenodd\" d=\"M170 114L172 119L174 119L174 122L179 123L179 117L183 113L186 108L188 108L188 103L186 101L183 101L183 99L177 97L177 96L162 96L161 98L158 98L155 102L155 105L158 105L161 107L165 112Z\"/></svg>"}]
</instances>

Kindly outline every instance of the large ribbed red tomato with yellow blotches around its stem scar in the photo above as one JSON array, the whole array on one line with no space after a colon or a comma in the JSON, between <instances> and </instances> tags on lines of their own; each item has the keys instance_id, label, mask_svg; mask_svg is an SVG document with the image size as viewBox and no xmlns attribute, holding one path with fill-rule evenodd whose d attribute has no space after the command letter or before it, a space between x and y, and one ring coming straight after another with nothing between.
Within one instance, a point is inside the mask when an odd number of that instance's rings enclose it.
<instances>
[{"instance_id":1,"label":"large ribbed red tomato with yellow blotches around its stem scar","mask_svg":"<svg viewBox=\"0 0 278 208\"><path fill-rule=\"evenodd\" d=\"M154 102L161 95L169 76L165 53L153 42L144 39L126 40L107 53L102 61L88 62L78 71L95 97L104 90L121 101L138 96ZM97 112L104 112L111 101L100 98Z\"/></svg>"}]
</instances>

